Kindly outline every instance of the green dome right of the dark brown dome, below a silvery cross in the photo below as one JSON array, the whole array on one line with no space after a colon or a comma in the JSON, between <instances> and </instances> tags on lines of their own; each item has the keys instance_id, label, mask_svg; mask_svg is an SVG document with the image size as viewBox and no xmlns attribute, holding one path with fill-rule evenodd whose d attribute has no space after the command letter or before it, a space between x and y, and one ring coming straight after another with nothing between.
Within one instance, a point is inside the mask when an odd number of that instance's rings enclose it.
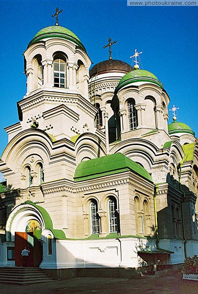
<instances>
[{"instance_id":1,"label":"green dome right of the dark brown dome, below a silvery cross","mask_svg":"<svg viewBox=\"0 0 198 294\"><path fill-rule=\"evenodd\" d=\"M125 74L121 80L119 81L115 92L120 90L122 87L135 83L135 82L147 82L147 83L154 83L160 88L163 89L162 83L157 79L157 77L148 71L144 70L134 70L130 73Z\"/></svg>"}]
</instances>

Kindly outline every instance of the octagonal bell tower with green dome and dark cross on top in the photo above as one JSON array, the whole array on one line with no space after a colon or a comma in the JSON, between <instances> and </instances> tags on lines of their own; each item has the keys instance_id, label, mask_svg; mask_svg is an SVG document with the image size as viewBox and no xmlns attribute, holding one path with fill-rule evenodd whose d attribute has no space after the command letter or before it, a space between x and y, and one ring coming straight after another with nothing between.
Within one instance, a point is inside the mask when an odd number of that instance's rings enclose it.
<instances>
[{"instance_id":1,"label":"octagonal bell tower with green dome and dark cross on top","mask_svg":"<svg viewBox=\"0 0 198 294\"><path fill-rule=\"evenodd\" d=\"M39 128L54 140L71 139L85 129L95 133L97 109L88 98L91 61L80 39L58 23L41 29L24 52L27 92L18 102L20 123L8 139L28 128ZM85 128L86 125L86 128Z\"/></svg>"}]
</instances>

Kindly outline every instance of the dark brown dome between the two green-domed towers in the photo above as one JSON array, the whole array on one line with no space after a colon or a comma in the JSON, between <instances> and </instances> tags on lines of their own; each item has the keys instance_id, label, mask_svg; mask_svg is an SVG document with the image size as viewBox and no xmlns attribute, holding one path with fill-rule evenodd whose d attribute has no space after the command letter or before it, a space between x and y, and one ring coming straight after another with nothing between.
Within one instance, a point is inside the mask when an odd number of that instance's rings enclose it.
<instances>
[{"instance_id":1,"label":"dark brown dome between the two green-domed towers","mask_svg":"<svg viewBox=\"0 0 198 294\"><path fill-rule=\"evenodd\" d=\"M94 65L90 71L90 77L101 73L129 73L133 70L132 66L121 60L105 60Z\"/></svg>"}]
</instances>

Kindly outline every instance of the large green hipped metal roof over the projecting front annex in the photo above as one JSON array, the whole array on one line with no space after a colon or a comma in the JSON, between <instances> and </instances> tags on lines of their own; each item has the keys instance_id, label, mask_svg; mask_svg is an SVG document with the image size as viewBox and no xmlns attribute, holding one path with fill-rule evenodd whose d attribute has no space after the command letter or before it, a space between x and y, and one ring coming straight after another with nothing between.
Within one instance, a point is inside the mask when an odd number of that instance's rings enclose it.
<instances>
[{"instance_id":1,"label":"large green hipped metal roof over the projecting front annex","mask_svg":"<svg viewBox=\"0 0 198 294\"><path fill-rule=\"evenodd\" d=\"M122 153L82 161L74 172L74 181L80 182L127 171L132 171L153 182L149 172Z\"/></svg>"}]
</instances>

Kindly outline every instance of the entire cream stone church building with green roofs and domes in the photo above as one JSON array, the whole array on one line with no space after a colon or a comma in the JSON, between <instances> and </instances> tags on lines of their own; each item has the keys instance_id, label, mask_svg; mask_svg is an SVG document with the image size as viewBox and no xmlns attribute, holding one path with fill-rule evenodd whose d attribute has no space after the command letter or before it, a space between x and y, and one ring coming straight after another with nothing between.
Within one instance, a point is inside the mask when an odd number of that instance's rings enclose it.
<instances>
[{"instance_id":1,"label":"entire cream stone church building with green roofs and domes","mask_svg":"<svg viewBox=\"0 0 198 294\"><path fill-rule=\"evenodd\" d=\"M157 77L94 65L65 27L24 52L26 95L0 159L0 267L152 271L198 254L198 140Z\"/></svg>"}]
</instances>

